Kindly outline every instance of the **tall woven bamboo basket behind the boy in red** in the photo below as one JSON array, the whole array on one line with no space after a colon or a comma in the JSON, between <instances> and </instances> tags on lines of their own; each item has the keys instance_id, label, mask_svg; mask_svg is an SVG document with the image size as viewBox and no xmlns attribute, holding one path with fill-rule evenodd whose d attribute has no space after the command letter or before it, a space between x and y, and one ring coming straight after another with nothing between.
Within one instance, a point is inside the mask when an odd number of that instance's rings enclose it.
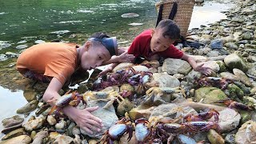
<instances>
[{"instance_id":1,"label":"tall woven bamboo basket behind the boy in red","mask_svg":"<svg viewBox=\"0 0 256 144\"><path fill-rule=\"evenodd\" d=\"M169 17L174 2L177 2L178 8L173 20L179 26L181 35L186 38L186 33L190 26L190 20L194 9L194 0L165 0L157 2L155 4L157 12L159 11L159 7L163 4L162 19L167 19Z\"/></svg>"}]
</instances>

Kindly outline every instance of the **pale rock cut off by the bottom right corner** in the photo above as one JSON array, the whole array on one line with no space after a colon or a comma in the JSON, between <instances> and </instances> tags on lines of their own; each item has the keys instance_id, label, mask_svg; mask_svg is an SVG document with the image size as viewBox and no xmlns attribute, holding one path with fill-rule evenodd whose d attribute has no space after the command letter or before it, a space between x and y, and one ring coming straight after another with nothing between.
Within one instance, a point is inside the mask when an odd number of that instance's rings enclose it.
<instances>
[{"instance_id":1,"label":"pale rock cut off by the bottom right corner","mask_svg":"<svg viewBox=\"0 0 256 144\"><path fill-rule=\"evenodd\" d=\"M239 128L235 134L235 142L238 144L251 144L256 142L256 122L248 121Z\"/></svg>"}]
</instances>

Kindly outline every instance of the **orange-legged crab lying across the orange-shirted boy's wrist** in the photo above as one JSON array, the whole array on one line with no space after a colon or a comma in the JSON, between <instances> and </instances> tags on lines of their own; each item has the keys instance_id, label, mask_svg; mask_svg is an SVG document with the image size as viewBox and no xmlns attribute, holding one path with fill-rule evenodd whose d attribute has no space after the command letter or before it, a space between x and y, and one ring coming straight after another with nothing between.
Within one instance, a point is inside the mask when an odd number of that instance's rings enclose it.
<instances>
[{"instance_id":1,"label":"orange-legged crab lying across the orange-shirted boy's wrist","mask_svg":"<svg viewBox=\"0 0 256 144\"><path fill-rule=\"evenodd\" d=\"M49 114L54 114L56 118L61 118L61 117L65 118L65 116L61 114L61 110L65 106L70 105L70 106L76 107L81 101L83 104L86 104L86 101L83 100L82 95L78 94L77 91L74 91L72 93L68 91L66 94L62 95L61 98L50 100L48 102L55 101L55 100L57 100L55 102L55 106L52 107Z\"/></svg>"}]
</instances>

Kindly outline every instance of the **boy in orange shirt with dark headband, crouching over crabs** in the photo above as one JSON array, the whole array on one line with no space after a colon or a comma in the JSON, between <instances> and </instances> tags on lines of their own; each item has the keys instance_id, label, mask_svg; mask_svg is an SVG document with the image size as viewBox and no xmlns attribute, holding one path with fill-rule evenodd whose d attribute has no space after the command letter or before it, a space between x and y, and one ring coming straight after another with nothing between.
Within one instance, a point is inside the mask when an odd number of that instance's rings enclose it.
<instances>
[{"instance_id":1,"label":"boy in orange shirt with dark headband, crouching over crabs","mask_svg":"<svg viewBox=\"0 0 256 144\"><path fill-rule=\"evenodd\" d=\"M17 60L17 69L26 78L50 82L42 98L54 106L56 100L61 97L58 91L75 70L91 70L113 62L130 62L134 58L126 53L114 56L118 54L117 48L116 39L102 33L93 34L78 48L72 44L46 42L31 46L22 52ZM65 106L62 110L78 126L92 134L102 128L102 120L90 114L97 109L97 106L84 110Z\"/></svg>"}]
</instances>

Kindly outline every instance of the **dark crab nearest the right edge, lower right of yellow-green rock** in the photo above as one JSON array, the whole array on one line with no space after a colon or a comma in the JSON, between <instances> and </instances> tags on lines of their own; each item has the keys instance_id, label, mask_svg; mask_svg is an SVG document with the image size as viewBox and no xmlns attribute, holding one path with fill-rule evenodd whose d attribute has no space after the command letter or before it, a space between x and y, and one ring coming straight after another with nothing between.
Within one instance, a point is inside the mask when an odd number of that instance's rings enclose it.
<instances>
[{"instance_id":1,"label":"dark crab nearest the right edge, lower right of yellow-green rock","mask_svg":"<svg viewBox=\"0 0 256 144\"><path fill-rule=\"evenodd\" d=\"M252 108L250 106L247 106L246 104L243 104L242 102L235 102L232 99L225 99L225 100L220 100L214 103L219 103L222 102L224 103L228 108L230 109L238 109L238 110L252 110Z\"/></svg>"}]
</instances>

